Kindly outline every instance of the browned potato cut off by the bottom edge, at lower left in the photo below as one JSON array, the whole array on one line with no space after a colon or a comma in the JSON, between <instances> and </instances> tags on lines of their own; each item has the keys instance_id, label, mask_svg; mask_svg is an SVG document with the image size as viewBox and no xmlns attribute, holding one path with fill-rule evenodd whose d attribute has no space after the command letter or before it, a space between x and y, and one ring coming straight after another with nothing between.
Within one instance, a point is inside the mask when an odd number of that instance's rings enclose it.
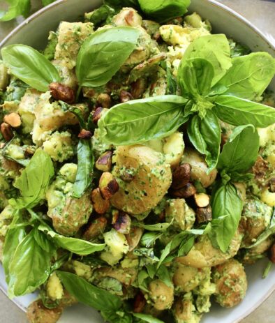
<instances>
[{"instance_id":1,"label":"browned potato cut off by the bottom edge, at lower left","mask_svg":"<svg viewBox=\"0 0 275 323\"><path fill-rule=\"evenodd\" d=\"M56 323L61 317L63 308L45 308L42 301L34 301L27 308L27 318L30 323Z\"/></svg>"}]
</instances>

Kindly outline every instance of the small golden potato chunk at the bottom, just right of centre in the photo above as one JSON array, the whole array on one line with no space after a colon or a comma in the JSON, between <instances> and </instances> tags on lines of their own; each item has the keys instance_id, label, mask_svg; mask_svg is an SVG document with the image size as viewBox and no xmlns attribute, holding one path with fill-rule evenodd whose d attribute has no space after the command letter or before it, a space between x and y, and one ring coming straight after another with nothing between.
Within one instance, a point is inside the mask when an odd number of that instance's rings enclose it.
<instances>
[{"instance_id":1,"label":"small golden potato chunk at the bottom, just right of centre","mask_svg":"<svg viewBox=\"0 0 275 323\"><path fill-rule=\"evenodd\" d=\"M157 279L149 283L150 298L156 310L167 310L171 308L174 301L174 288Z\"/></svg>"}]
</instances>

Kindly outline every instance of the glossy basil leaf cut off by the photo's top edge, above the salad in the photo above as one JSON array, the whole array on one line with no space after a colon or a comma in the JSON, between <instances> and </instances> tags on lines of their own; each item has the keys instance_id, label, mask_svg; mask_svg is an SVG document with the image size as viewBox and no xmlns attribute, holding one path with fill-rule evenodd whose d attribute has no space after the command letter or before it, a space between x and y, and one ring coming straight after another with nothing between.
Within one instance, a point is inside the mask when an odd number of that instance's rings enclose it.
<instances>
[{"instance_id":1,"label":"glossy basil leaf cut off by the photo's top edge, above the salad","mask_svg":"<svg viewBox=\"0 0 275 323\"><path fill-rule=\"evenodd\" d=\"M157 22L165 22L180 17L187 12L190 0L138 0L145 15Z\"/></svg>"}]
</instances>

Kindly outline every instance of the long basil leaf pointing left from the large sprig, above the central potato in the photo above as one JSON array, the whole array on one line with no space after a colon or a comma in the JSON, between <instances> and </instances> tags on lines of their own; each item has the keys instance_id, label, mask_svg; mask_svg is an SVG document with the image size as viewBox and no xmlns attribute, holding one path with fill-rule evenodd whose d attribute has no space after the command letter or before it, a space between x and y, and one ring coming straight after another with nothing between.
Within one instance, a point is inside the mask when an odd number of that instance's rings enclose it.
<instances>
[{"instance_id":1,"label":"long basil leaf pointing left from the large sprig, above the central potato","mask_svg":"<svg viewBox=\"0 0 275 323\"><path fill-rule=\"evenodd\" d=\"M181 96L155 96L115 105L98 121L105 142L135 144L170 135L186 121Z\"/></svg>"}]
</instances>

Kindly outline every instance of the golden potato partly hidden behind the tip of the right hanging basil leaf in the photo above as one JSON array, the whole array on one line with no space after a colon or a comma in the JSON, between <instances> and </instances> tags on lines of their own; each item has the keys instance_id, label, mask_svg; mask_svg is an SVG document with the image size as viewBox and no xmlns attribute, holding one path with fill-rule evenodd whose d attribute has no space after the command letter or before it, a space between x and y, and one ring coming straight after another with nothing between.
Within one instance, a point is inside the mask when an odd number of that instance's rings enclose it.
<instances>
[{"instance_id":1,"label":"golden potato partly hidden behind the tip of the right hanging basil leaf","mask_svg":"<svg viewBox=\"0 0 275 323\"><path fill-rule=\"evenodd\" d=\"M223 264L226 260L234 257L239 250L241 244L241 234L239 231L235 233L228 251L223 253L221 250L214 248L207 235L200 236L198 242L184 257L178 257L177 262L195 268L211 267L218 264Z\"/></svg>"}]
</instances>

